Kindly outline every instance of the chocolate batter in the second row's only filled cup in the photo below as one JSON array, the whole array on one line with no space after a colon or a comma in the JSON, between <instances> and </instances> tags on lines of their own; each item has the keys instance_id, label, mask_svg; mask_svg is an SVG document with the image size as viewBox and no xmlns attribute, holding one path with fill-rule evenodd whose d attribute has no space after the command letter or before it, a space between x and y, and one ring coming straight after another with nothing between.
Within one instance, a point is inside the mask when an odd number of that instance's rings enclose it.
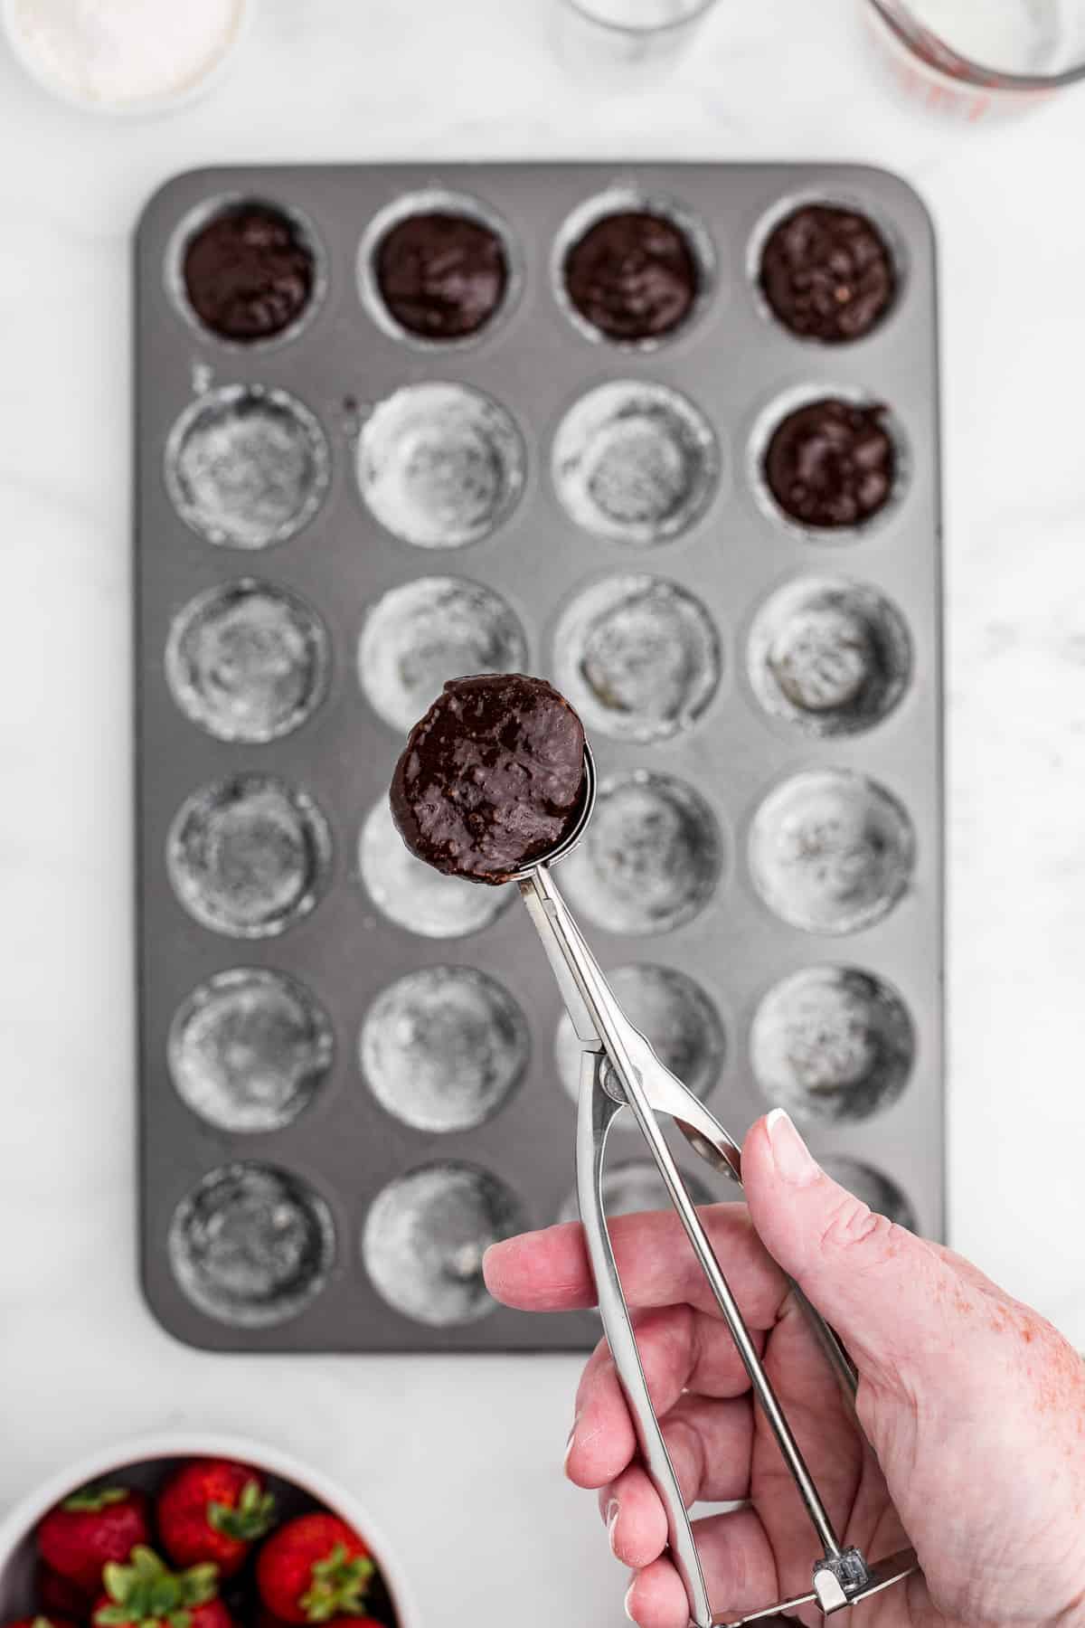
<instances>
[{"instance_id":1,"label":"chocolate batter in the second row's only filled cup","mask_svg":"<svg viewBox=\"0 0 1085 1628\"><path fill-rule=\"evenodd\" d=\"M769 492L792 519L833 529L862 526L893 490L896 453L885 407L807 402L774 430L765 454Z\"/></svg>"}]
</instances>

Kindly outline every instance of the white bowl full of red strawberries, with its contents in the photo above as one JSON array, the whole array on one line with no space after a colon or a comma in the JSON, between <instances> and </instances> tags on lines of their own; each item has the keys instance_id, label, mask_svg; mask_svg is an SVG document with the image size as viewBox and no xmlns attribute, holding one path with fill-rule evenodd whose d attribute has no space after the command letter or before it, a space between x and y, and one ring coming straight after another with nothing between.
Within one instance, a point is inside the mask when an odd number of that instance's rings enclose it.
<instances>
[{"instance_id":1,"label":"white bowl full of red strawberries, with its contents","mask_svg":"<svg viewBox=\"0 0 1085 1628\"><path fill-rule=\"evenodd\" d=\"M415 1628L350 1495L221 1438L114 1449L0 1522L0 1628Z\"/></svg>"}]
</instances>

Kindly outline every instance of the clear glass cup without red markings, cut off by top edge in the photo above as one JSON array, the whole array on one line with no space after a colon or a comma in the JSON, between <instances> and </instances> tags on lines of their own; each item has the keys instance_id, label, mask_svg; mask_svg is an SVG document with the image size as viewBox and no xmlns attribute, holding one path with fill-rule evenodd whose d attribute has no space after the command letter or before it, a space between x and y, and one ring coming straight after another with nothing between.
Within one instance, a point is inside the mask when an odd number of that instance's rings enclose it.
<instances>
[{"instance_id":1,"label":"clear glass cup without red markings, cut off by top edge","mask_svg":"<svg viewBox=\"0 0 1085 1628\"><path fill-rule=\"evenodd\" d=\"M716 0L558 0L556 47L595 86L662 78Z\"/></svg>"}]
</instances>

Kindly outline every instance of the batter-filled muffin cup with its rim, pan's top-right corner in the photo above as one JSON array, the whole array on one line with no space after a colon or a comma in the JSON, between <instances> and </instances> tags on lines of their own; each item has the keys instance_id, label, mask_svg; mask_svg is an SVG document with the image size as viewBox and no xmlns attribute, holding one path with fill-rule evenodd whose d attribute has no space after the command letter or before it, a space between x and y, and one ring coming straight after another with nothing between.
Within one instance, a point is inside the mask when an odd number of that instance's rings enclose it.
<instances>
[{"instance_id":1,"label":"batter-filled muffin cup with its rim, pan's top-right corner","mask_svg":"<svg viewBox=\"0 0 1085 1628\"><path fill-rule=\"evenodd\" d=\"M747 274L766 321L794 339L848 345L891 316L906 265L896 234L865 205L808 195L761 221Z\"/></svg>"}]
</instances>

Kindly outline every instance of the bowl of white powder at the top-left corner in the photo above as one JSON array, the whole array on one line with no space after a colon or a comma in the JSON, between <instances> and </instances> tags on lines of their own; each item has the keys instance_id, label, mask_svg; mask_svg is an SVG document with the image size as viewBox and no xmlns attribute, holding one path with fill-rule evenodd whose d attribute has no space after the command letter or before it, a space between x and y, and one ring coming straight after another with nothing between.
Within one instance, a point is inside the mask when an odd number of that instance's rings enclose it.
<instances>
[{"instance_id":1,"label":"bowl of white powder at the top-left corner","mask_svg":"<svg viewBox=\"0 0 1085 1628\"><path fill-rule=\"evenodd\" d=\"M28 65L62 94L102 107L184 96L229 50L244 0L13 0Z\"/></svg>"}]
</instances>

